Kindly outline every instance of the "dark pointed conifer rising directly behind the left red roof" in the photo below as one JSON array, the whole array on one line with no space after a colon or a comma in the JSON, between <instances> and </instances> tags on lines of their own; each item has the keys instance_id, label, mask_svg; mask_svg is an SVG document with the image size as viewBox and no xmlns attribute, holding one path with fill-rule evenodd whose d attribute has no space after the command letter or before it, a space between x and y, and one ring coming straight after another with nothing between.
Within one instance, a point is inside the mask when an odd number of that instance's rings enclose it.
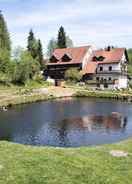
<instances>
[{"instance_id":1,"label":"dark pointed conifer rising directly behind the left red roof","mask_svg":"<svg viewBox=\"0 0 132 184\"><path fill-rule=\"evenodd\" d=\"M61 26L58 32L58 39L57 39L57 46L58 48L66 48L66 33L64 28Z\"/></svg>"}]
</instances>

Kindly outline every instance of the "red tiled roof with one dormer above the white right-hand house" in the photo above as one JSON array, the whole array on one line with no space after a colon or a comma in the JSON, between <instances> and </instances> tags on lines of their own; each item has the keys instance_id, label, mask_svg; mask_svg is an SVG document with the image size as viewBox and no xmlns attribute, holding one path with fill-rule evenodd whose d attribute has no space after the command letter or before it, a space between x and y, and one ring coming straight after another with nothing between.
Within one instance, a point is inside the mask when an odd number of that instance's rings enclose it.
<instances>
[{"instance_id":1,"label":"red tiled roof with one dormer above the white right-hand house","mask_svg":"<svg viewBox=\"0 0 132 184\"><path fill-rule=\"evenodd\" d=\"M97 50L93 52L93 57L103 56L103 61L98 61L98 64L107 64L107 63L117 63L120 62L123 54L125 52L125 48L115 48L110 51L106 50Z\"/></svg>"}]
</instances>

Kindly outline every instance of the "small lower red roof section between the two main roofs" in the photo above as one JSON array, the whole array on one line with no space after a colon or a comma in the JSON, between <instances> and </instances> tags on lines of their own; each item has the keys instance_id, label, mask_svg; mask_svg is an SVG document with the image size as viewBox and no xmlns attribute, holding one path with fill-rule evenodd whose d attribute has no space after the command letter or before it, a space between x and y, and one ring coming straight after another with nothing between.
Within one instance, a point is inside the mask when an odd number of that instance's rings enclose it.
<instances>
[{"instance_id":1,"label":"small lower red roof section between the two main roofs","mask_svg":"<svg viewBox=\"0 0 132 184\"><path fill-rule=\"evenodd\" d=\"M93 74L96 71L97 68L97 63L96 62L87 62L82 70L82 74Z\"/></svg>"}]
</instances>

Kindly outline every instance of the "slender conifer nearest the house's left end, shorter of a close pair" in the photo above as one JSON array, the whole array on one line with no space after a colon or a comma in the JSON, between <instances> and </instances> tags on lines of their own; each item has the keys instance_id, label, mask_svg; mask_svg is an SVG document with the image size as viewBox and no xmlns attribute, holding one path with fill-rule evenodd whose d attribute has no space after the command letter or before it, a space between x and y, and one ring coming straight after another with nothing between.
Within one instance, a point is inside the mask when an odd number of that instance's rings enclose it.
<instances>
[{"instance_id":1,"label":"slender conifer nearest the house's left end, shorter of a close pair","mask_svg":"<svg viewBox=\"0 0 132 184\"><path fill-rule=\"evenodd\" d=\"M37 58L40 63L41 68L43 68L43 48L40 39L38 40Z\"/></svg>"}]
</instances>

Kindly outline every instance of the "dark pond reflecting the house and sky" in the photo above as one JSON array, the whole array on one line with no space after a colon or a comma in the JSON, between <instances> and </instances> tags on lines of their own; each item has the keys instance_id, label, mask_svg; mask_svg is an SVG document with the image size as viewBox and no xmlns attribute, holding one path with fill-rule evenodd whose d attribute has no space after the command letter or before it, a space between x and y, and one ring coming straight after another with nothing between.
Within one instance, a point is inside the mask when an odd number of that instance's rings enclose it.
<instances>
[{"instance_id":1,"label":"dark pond reflecting the house and sky","mask_svg":"<svg viewBox=\"0 0 132 184\"><path fill-rule=\"evenodd\" d=\"M132 136L132 104L102 99L63 99L0 112L0 140L80 147L114 143Z\"/></svg>"}]
</instances>

